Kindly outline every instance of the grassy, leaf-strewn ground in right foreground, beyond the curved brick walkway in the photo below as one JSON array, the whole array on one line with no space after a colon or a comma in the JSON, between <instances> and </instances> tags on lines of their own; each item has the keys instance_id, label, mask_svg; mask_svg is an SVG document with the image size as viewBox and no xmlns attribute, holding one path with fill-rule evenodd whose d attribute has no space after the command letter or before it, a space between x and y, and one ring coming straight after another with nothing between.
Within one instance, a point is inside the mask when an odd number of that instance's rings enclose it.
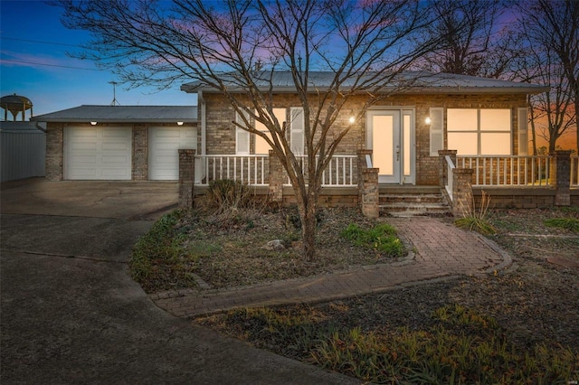
<instances>
[{"instance_id":1,"label":"grassy, leaf-strewn ground in right foreground, beyond the curved brick walkway","mask_svg":"<svg viewBox=\"0 0 579 385\"><path fill-rule=\"evenodd\" d=\"M546 225L558 218L579 212L490 211L489 238L514 262L496 275L195 322L376 383L576 381L579 268L549 260L579 262L579 233Z\"/></svg>"}]
</instances>

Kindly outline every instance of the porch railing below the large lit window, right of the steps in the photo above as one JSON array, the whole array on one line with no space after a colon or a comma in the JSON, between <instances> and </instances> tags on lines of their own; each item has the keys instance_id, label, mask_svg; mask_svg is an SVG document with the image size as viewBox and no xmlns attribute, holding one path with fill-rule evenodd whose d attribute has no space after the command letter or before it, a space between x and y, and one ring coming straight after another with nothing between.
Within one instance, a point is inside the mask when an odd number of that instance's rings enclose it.
<instances>
[{"instance_id":1,"label":"porch railing below the large lit window, right of the steps","mask_svg":"<svg viewBox=\"0 0 579 385\"><path fill-rule=\"evenodd\" d=\"M457 156L456 165L474 170L474 186L550 186L551 160L548 155Z\"/></svg>"}]
</instances>

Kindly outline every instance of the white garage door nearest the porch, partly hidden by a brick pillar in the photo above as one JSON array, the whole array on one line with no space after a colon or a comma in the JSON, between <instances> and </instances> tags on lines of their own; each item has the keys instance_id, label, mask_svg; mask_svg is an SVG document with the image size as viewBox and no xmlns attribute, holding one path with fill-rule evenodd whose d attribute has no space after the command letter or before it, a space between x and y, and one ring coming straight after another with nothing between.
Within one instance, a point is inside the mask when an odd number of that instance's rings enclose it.
<instances>
[{"instance_id":1,"label":"white garage door nearest the porch, partly hidden by a brick pillar","mask_svg":"<svg viewBox=\"0 0 579 385\"><path fill-rule=\"evenodd\" d=\"M197 148L193 127L150 127L148 131L148 179L179 179L179 149Z\"/></svg>"}]
</instances>

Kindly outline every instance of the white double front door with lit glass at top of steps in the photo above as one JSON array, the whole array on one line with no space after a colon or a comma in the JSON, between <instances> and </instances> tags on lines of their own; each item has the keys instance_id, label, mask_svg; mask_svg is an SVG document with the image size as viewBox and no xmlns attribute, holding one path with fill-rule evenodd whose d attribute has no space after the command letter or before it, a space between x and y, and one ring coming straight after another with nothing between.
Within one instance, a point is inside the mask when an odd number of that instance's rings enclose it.
<instances>
[{"instance_id":1,"label":"white double front door with lit glass at top of steps","mask_svg":"<svg viewBox=\"0 0 579 385\"><path fill-rule=\"evenodd\" d=\"M372 166L380 169L378 183L413 184L413 109L370 110L366 122L366 146L373 150Z\"/></svg>"}]
</instances>

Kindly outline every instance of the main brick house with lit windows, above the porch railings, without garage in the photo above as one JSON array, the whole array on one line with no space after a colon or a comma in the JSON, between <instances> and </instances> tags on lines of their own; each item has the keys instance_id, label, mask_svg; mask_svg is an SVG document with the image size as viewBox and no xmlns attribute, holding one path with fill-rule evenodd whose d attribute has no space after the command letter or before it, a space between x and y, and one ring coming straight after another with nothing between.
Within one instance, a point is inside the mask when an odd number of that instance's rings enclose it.
<instances>
[{"instance_id":1,"label":"main brick house with lit windows, above the porch railings, without garage","mask_svg":"<svg viewBox=\"0 0 579 385\"><path fill-rule=\"evenodd\" d=\"M309 79L316 88L324 89L333 77L331 72L315 72ZM291 73L276 72L271 82L274 113L280 121L290 122L292 149L303 154L301 108L292 90ZM269 87L269 82L263 84L263 89ZM223 95L201 82L185 84L182 89L198 96L202 144L198 155L267 155L267 144L259 136L233 126L237 117ZM527 95L546 89L453 74L424 77L368 110L354 123L337 154L374 150L380 183L438 184L441 149L456 149L459 155L527 155ZM351 111L361 108L365 98L350 99L338 124L350 124Z\"/></svg>"}]
</instances>

